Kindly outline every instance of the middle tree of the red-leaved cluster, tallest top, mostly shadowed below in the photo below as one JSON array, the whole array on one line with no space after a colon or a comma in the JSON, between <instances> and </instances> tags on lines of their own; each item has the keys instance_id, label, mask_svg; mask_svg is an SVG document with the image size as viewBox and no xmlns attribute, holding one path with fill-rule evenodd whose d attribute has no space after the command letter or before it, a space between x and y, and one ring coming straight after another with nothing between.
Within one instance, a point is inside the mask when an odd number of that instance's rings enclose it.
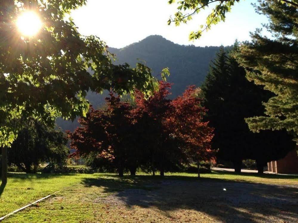
<instances>
[{"instance_id":1,"label":"middle tree of the red-leaved cluster, tallest top, mostly shadowed below","mask_svg":"<svg viewBox=\"0 0 298 223\"><path fill-rule=\"evenodd\" d=\"M165 171L175 170L183 163L184 154L172 137L172 129L167 127L171 111L170 88L170 83L160 81L159 90L147 100L143 93L135 92L136 108L132 114L139 135L136 145L146 154L143 167L150 169L153 175L159 170L163 176Z\"/></svg>"}]
</instances>

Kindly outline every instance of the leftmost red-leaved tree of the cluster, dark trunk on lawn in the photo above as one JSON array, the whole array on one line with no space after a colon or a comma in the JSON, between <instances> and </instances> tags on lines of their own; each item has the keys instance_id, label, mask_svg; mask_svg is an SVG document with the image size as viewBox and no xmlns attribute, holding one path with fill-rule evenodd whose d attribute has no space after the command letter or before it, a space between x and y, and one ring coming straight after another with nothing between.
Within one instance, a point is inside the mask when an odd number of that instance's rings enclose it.
<instances>
[{"instance_id":1,"label":"leftmost red-leaved tree of the cluster, dark trunk on lawn","mask_svg":"<svg viewBox=\"0 0 298 223\"><path fill-rule=\"evenodd\" d=\"M72 155L84 157L90 152L96 152L98 156L115 163L119 176L123 176L126 161L134 154L131 151L131 105L121 102L119 96L116 97L113 93L106 98L106 102L105 109L94 110L90 107L86 118L79 119L81 127L76 128L73 133L68 132L70 146L75 149ZM135 170L132 174L135 174Z\"/></svg>"}]
</instances>

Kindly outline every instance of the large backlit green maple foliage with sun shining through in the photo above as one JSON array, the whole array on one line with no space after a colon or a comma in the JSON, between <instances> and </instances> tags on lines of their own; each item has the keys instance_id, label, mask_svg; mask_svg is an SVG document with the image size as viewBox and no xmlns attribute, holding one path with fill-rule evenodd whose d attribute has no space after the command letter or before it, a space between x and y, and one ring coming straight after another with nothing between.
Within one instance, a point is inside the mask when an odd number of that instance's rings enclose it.
<instances>
[{"instance_id":1,"label":"large backlit green maple foliage with sun shining through","mask_svg":"<svg viewBox=\"0 0 298 223\"><path fill-rule=\"evenodd\" d=\"M74 119L85 116L87 91L104 89L124 94L135 88L148 96L158 82L138 63L113 65L115 55L96 36L81 35L69 16L86 0L1 2L0 9L0 146L16 137L20 117ZM16 21L22 12L35 12L41 30L22 36Z\"/></svg>"}]
</instances>

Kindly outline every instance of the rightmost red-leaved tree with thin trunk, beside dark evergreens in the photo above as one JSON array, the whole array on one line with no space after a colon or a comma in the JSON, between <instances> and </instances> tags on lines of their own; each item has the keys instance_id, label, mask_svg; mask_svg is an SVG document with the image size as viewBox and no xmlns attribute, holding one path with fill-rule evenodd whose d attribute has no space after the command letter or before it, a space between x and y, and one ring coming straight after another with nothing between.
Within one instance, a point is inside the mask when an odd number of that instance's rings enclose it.
<instances>
[{"instance_id":1,"label":"rightmost red-leaved tree with thin trunk, beside dark evergreens","mask_svg":"<svg viewBox=\"0 0 298 223\"><path fill-rule=\"evenodd\" d=\"M211 150L213 129L203 121L206 109L201 106L197 97L200 89L190 86L171 102L171 112L167 117L167 128L180 142L180 149L189 161L195 161L200 177L200 161L213 161L214 151Z\"/></svg>"}]
</instances>

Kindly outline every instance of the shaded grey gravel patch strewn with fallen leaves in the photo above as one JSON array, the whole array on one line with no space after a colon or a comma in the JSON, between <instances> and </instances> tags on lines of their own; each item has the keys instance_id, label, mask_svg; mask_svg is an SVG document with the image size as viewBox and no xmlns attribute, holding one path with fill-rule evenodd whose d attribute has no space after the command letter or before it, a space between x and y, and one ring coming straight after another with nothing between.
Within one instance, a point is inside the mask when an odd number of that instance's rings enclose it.
<instances>
[{"instance_id":1,"label":"shaded grey gravel patch strewn with fallen leaves","mask_svg":"<svg viewBox=\"0 0 298 223\"><path fill-rule=\"evenodd\" d=\"M161 180L94 202L117 207L114 211L155 208L157 216L175 213L169 222L298 222L298 185ZM187 221L177 217L185 210L190 211Z\"/></svg>"}]
</instances>

